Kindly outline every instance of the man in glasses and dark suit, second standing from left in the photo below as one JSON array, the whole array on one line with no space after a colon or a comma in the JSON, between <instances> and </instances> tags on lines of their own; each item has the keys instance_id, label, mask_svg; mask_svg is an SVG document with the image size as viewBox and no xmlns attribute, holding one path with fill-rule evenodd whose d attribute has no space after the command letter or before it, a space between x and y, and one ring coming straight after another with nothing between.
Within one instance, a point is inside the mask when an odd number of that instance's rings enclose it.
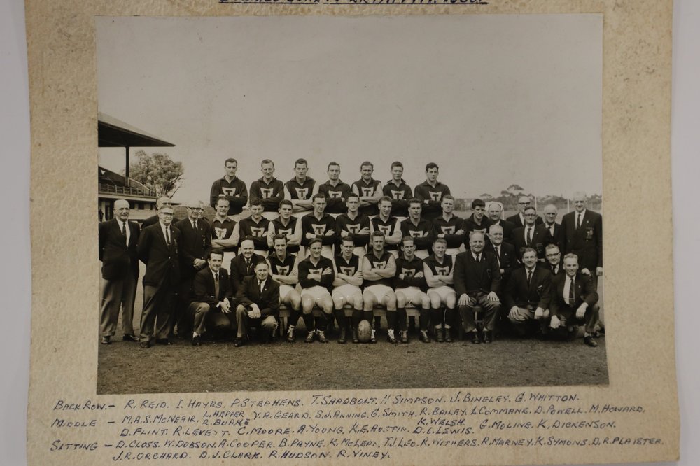
<instances>
[{"instance_id":1,"label":"man in glasses and dark suit, second standing from left","mask_svg":"<svg viewBox=\"0 0 700 466\"><path fill-rule=\"evenodd\" d=\"M172 225L172 207L161 207L160 220L144 228L139 238L139 259L146 264L144 311L141 313L141 348L169 345L170 319L180 283L180 230Z\"/></svg>"}]
</instances>

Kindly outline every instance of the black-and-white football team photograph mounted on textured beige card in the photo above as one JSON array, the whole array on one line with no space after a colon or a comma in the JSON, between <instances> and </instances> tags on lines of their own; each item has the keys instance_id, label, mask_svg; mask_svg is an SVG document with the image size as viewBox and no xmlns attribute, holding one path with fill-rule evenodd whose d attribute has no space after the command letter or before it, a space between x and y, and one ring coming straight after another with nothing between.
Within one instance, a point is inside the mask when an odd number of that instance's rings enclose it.
<instances>
[{"instance_id":1,"label":"black-and-white football team photograph mounted on textured beige card","mask_svg":"<svg viewBox=\"0 0 700 466\"><path fill-rule=\"evenodd\" d=\"M95 25L97 394L608 384L602 15Z\"/></svg>"}]
</instances>

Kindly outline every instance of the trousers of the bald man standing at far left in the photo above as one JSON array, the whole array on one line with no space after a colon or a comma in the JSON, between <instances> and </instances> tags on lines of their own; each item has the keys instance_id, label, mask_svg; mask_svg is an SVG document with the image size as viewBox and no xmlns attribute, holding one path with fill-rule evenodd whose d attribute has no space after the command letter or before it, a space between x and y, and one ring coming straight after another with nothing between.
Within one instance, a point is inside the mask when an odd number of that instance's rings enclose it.
<instances>
[{"instance_id":1,"label":"trousers of the bald man standing at far left","mask_svg":"<svg viewBox=\"0 0 700 466\"><path fill-rule=\"evenodd\" d=\"M134 300L137 278L127 274L117 280L102 278L102 305L99 309L99 333L102 337L113 337L122 309L122 331L134 334Z\"/></svg>"}]
</instances>

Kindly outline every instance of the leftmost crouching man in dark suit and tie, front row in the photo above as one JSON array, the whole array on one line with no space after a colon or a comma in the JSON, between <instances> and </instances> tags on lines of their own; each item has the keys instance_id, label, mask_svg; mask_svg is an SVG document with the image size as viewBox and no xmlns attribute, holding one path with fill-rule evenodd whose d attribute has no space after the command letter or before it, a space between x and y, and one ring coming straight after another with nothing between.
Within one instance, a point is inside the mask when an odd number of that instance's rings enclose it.
<instances>
[{"instance_id":1,"label":"leftmost crouching man in dark suit and tie, front row","mask_svg":"<svg viewBox=\"0 0 700 466\"><path fill-rule=\"evenodd\" d=\"M232 312L232 290L228 272L221 267L223 250L212 249L207 257L209 267L197 272L192 285L192 302L188 307L193 320L192 344L200 346L201 336L207 327L216 332L236 328Z\"/></svg>"}]
</instances>

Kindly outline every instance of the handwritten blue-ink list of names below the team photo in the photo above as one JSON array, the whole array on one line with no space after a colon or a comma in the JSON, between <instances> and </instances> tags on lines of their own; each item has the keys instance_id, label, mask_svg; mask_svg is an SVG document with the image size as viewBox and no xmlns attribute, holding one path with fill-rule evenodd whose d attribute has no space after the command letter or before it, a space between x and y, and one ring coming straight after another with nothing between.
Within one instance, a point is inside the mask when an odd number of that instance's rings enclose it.
<instances>
[{"instance_id":1,"label":"handwritten blue-ink list of names below the team photo","mask_svg":"<svg viewBox=\"0 0 700 466\"><path fill-rule=\"evenodd\" d=\"M301 398L148 397L123 404L56 400L47 448L106 460L372 458L395 449L649 446L655 437L617 434L645 412L638 405L584 404L575 393ZM91 437L113 433L110 442ZM104 438L104 437L101 437ZM405 451L405 450L402 450Z\"/></svg>"}]
</instances>

